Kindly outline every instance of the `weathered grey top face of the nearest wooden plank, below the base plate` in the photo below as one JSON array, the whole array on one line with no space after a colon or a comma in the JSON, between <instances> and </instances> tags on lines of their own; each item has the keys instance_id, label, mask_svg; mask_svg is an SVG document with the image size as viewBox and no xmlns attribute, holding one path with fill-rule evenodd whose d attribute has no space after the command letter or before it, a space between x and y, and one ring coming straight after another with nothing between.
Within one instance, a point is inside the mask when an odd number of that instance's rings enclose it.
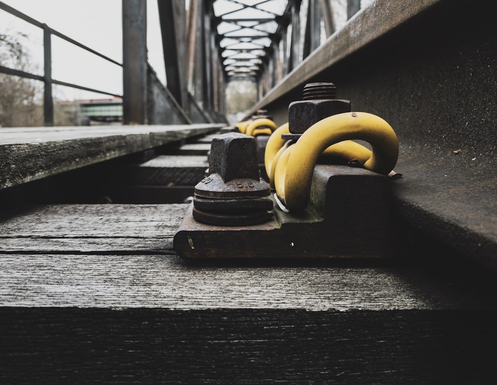
<instances>
[{"instance_id":1,"label":"weathered grey top face of the nearest wooden plank, below the base plate","mask_svg":"<svg viewBox=\"0 0 497 385\"><path fill-rule=\"evenodd\" d=\"M171 253L135 252L0 254L0 306L306 311L495 308L491 294L475 281L468 279L458 287L453 279L434 277L413 266L302 261L190 265Z\"/></svg>"}]
</instances>

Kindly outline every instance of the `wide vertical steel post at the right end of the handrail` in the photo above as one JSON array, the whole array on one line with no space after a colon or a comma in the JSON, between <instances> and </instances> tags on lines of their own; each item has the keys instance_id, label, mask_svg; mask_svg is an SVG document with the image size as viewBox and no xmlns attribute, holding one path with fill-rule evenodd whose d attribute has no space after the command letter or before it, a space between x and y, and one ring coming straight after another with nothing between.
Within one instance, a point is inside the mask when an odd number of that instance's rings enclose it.
<instances>
[{"instance_id":1,"label":"wide vertical steel post at the right end of the handrail","mask_svg":"<svg viewBox=\"0 0 497 385\"><path fill-rule=\"evenodd\" d=\"M147 2L122 0L123 123L147 123Z\"/></svg>"}]
</instances>

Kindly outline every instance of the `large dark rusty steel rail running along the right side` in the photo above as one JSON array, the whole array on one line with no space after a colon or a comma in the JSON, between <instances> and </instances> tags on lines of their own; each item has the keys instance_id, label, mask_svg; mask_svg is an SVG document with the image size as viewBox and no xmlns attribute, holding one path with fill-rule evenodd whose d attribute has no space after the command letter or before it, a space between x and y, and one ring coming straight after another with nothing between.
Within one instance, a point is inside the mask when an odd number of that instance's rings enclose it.
<instances>
[{"instance_id":1,"label":"large dark rusty steel rail running along the right side","mask_svg":"<svg viewBox=\"0 0 497 385\"><path fill-rule=\"evenodd\" d=\"M497 30L485 6L377 0L253 110L283 124L304 82L333 79L339 98L384 118L399 138L399 221L497 272Z\"/></svg>"}]
</instances>

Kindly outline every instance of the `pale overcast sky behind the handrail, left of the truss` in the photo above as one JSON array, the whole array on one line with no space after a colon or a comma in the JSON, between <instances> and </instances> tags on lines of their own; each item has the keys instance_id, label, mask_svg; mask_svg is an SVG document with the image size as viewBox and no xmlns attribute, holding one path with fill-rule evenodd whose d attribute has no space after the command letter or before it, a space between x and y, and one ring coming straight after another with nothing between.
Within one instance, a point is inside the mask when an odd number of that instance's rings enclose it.
<instances>
[{"instance_id":1,"label":"pale overcast sky behind the handrail, left of the truss","mask_svg":"<svg viewBox=\"0 0 497 385\"><path fill-rule=\"evenodd\" d=\"M121 0L2 0L22 13L47 24L89 48L122 63ZM148 58L157 75L166 81L157 0L147 0ZM43 75L43 32L0 10L0 33L21 31L29 35L33 67ZM122 94L122 70L85 50L52 36L52 77L60 81ZM107 95L56 86L58 99L106 98Z\"/></svg>"}]
</instances>

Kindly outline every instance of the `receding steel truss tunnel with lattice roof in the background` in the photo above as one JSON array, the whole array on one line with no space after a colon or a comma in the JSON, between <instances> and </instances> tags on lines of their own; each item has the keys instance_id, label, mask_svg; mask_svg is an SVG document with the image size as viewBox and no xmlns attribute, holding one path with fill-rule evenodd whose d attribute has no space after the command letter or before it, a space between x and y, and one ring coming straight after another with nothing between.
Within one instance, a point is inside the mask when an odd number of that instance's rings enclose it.
<instances>
[{"instance_id":1,"label":"receding steel truss tunnel with lattice roof in the background","mask_svg":"<svg viewBox=\"0 0 497 385\"><path fill-rule=\"evenodd\" d=\"M230 81L254 82L261 99L361 6L359 0L158 3L167 89L193 122L225 119Z\"/></svg>"}]
</instances>

